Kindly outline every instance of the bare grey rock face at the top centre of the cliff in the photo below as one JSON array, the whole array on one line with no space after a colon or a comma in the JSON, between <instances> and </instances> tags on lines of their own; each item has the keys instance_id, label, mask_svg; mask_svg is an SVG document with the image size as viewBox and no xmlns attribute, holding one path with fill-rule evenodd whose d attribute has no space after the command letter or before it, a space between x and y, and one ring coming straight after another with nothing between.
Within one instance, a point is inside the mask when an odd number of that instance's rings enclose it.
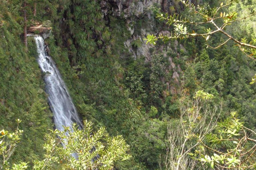
<instances>
[{"instance_id":1,"label":"bare grey rock face at the top centre of the cliff","mask_svg":"<svg viewBox=\"0 0 256 170\"><path fill-rule=\"evenodd\" d=\"M164 28L159 28L155 14L152 11L158 10L162 13L170 13L172 9L183 8L177 0L103 0L100 5L103 17L107 18L108 15L111 15L125 19L126 27L131 34L131 37L125 42L125 46L134 59L145 56L145 62L150 61L150 49L154 49L155 46L146 45L146 41L143 39L148 34L170 34L170 32L164 31ZM140 27L136 27L136 22L139 20L147 22L144 22ZM141 45L132 46L135 41L141 42Z\"/></svg>"}]
</instances>

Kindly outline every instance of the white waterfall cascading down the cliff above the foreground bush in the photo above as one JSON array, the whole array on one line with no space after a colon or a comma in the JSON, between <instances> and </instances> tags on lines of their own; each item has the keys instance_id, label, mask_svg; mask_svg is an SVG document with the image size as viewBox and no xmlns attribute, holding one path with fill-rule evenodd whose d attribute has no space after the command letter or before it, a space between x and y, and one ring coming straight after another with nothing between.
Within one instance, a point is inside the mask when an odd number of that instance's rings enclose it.
<instances>
[{"instance_id":1,"label":"white waterfall cascading down the cliff above the foreground bush","mask_svg":"<svg viewBox=\"0 0 256 170\"><path fill-rule=\"evenodd\" d=\"M63 131L65 127L71 127L73 123L82 127L76 108L68 93L64 81L55 66L52 58L46 53L46 45L40 36L35 37L38 63L41 70L45 73L44 80L46 84L46 93L49 95L48 101L54 115L55 127Z\"/></svg>"}]
</instances>

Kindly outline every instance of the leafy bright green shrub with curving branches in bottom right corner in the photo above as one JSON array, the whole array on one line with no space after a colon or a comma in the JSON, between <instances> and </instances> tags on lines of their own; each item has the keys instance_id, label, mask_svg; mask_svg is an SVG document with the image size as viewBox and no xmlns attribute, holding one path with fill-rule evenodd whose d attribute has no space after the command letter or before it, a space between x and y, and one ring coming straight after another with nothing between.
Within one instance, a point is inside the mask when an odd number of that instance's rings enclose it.
<instances>
[{"instance_id":1,"label":"leafy bright green shrub with curving branches in bottom right corner","mask_svg":"<svg viewBox=\"0 0 256 170\"><path fill-rule=\"evenodd\" d=\"M236 112L216 127L218 133L210 133L206 141L201 143L205 149L200 161L215 169L255 169L256 132L246 128L238 119ZM229 148L216 149L214 145L229 146ZM206 154L206 151L208 153ZM209 156L210 155L210 156Z\"/></svg>"}]
</instances>

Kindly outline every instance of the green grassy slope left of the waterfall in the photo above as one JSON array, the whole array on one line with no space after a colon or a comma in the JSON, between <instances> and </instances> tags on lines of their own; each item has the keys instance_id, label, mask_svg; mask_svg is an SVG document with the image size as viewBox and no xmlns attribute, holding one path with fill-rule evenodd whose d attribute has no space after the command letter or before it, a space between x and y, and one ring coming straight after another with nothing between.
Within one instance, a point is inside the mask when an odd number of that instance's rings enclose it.
<instances>
[{"instance_id":1,"label":"green grassy slope left of the waterfall","mask_svg":"<svg viewBox=\"0 0 256 170\"><path fill-rule=\"evenodd\" d=\"M52 128L52 113L47 104L41 71L36 62L37 50L33 38L28 37L28 53L25 53L20 39L22 27L8 12L9 4L0 3L0 128L16 129L16 118L23 121L19 127L24 130L10 166L19 162L31 162L43 155L43 136ZM14 3L14 1L13 1ZM16 12L16 11L14 11Z\"/></svg>"}]
</instances>

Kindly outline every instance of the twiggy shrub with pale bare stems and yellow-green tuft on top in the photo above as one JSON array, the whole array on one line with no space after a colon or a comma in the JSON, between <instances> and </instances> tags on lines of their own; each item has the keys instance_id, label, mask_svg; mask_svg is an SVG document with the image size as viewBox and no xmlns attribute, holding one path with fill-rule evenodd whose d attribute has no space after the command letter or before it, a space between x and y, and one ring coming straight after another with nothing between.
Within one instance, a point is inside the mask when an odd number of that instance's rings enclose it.
<instances>
[{"instance_id":1,"label":"twiggy shrub with pale bare stems and yellow-green tuft on top","mask_svg":"<svg viewBox=\"0 0 256 170\"><path fill-rule=\"evenodd\" d=\"M180 120L176 126L167 129L167 149L164 155L164 168L167 170L195 169L200 155L195 150L208 133L214 130L221 112L221 105L211 106L213 95L198 91L192 105L181 108ZM161 167L161 165L160 165Z\"/></svg>"}]
</instances>

